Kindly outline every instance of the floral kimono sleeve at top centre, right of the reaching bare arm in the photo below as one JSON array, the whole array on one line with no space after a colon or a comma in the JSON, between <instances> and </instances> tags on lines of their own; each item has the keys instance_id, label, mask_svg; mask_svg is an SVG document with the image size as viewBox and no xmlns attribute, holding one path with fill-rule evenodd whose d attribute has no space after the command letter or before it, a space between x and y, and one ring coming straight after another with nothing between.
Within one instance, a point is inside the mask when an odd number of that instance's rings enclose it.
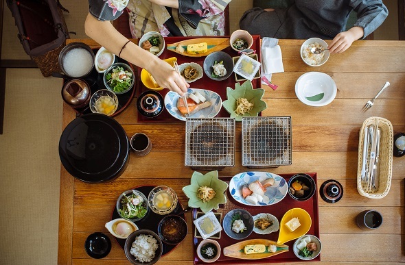
<instances>
[{"instance_id":1,"label":"floral kimono sleeve at top centre, right of the reaching bare arm","mask_svg":"<svg viewBox=\"0 0 405 265\"><path fill-rule=\"evenodd\" d=\"M231 0L178 0L178 12L196 28L202 19L224 12L229 2Z\"/></svg>"}]
</instances>

